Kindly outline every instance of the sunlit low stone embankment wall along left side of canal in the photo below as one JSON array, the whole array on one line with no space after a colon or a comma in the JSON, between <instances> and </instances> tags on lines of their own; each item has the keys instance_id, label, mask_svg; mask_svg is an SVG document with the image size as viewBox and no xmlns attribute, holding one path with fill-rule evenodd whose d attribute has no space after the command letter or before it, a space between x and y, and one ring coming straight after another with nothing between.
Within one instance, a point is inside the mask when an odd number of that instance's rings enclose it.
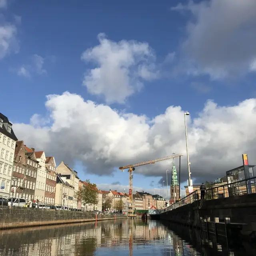
<instances>
[{"instance_id":1,"label":"sunlit low stone embankment wall along left side of canal","mask_svg":"<svg viewBox=\"0 0 256 256\"><path fill-rule=\"evenodd\" d=\"M97 215L97 221L127 218L124 215ZM0 229L47 226L96 221L92 212L46 210L8 206L0 208Z\"/></svg>"}]
</instances>

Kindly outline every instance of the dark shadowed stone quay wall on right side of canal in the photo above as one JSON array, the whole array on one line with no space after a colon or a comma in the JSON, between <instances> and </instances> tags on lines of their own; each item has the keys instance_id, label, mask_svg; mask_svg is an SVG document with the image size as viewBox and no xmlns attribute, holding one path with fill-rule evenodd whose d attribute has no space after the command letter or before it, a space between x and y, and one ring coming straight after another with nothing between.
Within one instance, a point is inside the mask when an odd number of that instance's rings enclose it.
<instances>
[{"instance_id":1,"label":"dark shadowed stone quay wall on right side of canal","mask_svg":"<svg viewBox=\"0 0 256 256\"><path fill-rule=\"evenodd\" d=\"M174 210L160 214L160 219L201 227L201 220L214 222L228 221L243 224L243 234L256 234L256 194L230 196L214 200L198 200Z\"/></svg>"}]
</instances>

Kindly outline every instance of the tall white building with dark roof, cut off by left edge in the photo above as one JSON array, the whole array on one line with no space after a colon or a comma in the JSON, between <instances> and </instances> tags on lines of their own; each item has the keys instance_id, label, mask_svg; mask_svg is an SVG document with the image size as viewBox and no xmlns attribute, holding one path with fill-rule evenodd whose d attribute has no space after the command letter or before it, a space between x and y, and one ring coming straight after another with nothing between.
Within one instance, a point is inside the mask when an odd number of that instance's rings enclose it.
<instances>
[{"instance_id":1,"label":"tall white building with dark roof, cut off by left edge","mask_svg":"<svg viewBox=\"0 0 256 256\"><path fill-rule=\"evenodd\" d=\"M0 113L0 196L10 196L16 138L12 124Z\"/></svg>"}]
</instances>

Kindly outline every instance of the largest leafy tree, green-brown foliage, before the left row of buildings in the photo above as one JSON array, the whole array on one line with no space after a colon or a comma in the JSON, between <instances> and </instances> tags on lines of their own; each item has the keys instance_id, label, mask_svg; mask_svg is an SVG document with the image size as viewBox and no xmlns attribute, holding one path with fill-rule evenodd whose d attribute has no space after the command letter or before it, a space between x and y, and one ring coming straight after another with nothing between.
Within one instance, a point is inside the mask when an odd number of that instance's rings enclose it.
<instances>
[{"instance_id":1,"label":"largest leafy tree, green-brown foliage, before the left row of buildings","mask_svg":"<svg viewBox=\"0 0 256 256\"><path fill-rule=\"evenodd\" d=\"M86 186L79 188L75 193L75 197L81 200L83 204L98 204L98 189L96 184L86 180Z\"/></svg>"}]
</instances>

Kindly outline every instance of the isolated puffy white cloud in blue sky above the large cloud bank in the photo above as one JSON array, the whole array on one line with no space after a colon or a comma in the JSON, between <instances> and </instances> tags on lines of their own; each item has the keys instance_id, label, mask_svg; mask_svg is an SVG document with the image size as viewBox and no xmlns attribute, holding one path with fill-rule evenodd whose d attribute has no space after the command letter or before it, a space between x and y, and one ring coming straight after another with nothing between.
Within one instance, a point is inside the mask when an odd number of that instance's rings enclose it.
<instances>
[{"instance_id":1,"label":"isolated puffy white cloud in blue sky above the large cloud bank","mask_svg":"<svg viewBox=\"0 0 256 256\"><path fill-rule=\"evenodd\" d=\"M87 49L81 57L96 64L84 74L83 84L90 94L103 96L108 104L124 103L142 88L143 80L157 78L154 52L148 43L113 42L105 34L99 34L98 40L100 44Z\"/></svg>"}]
</instances>

